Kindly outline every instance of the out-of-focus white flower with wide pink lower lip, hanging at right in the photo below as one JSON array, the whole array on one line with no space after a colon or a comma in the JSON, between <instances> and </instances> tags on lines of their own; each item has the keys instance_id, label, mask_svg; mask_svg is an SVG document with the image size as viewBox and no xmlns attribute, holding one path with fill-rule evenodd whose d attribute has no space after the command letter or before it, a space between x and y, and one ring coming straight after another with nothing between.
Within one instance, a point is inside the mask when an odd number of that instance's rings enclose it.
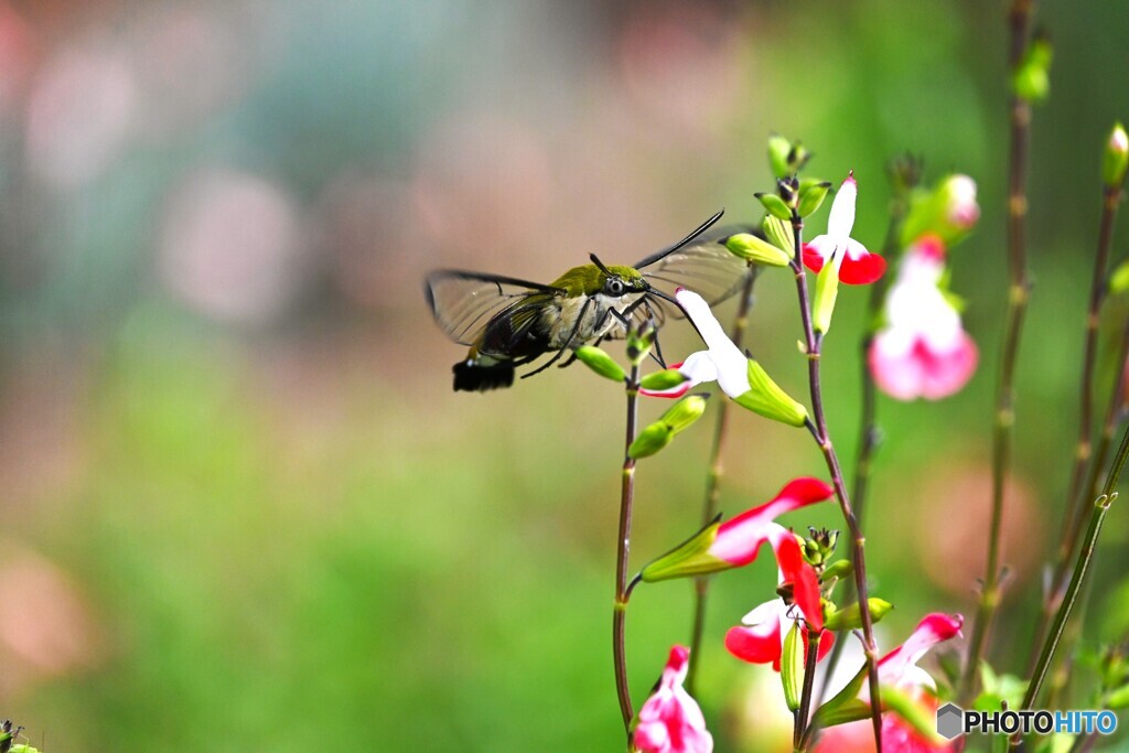
<instances>
[{"instance_id":1,"label":"out-of-focus white flower with wide pink lower lip, hanging at right","mask_svg":"<svg viewBox=\"0 0 1129 753\"><path fill-rule=\"evenodd\" d=\"M924 236L905 252L886 296L886 326L870 344L870 374L898 400L939 400L959 392L977 369L977 345L940 288L945 248Z\"/></svg>"}]
</instances>

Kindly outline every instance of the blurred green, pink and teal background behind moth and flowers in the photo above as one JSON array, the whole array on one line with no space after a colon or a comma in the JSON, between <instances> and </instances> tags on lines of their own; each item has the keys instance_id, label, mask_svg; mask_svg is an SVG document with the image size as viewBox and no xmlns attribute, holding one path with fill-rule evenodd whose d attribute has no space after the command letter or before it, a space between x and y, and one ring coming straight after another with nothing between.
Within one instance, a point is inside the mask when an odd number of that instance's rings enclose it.
<instances>
[{"instance_id":1,"label":"blurred green, pink and teal background behind moth and flowers","mask_svg":"<svg viewBox=\"0 0 1129 753\"><path fill-rule=\"evenodd\" d=\"M1056 61L992 647L1013 669L1067 483L1100 149L1129 117L1124 5L1039 17ZM883 400L868 513L874 589L898 606L886 647L926 611L971 613L1004 19L980 0L0 2L0 716L47 751L615 750L621 392L575 367L453 394L462 351L422 278L550 280L594 251L633 262L723 205L759 219L771 130L804 140L814 174L856 170L868 245L893 154L979 182L953 265L981 369L940 404ZM803 394L790 279L759 289L752 347ZM848 466L864 296L840 296L824 367ZM664 332L668 353L694 347L686 330ZM708 427L641 463L637 563L695 527ZM804 432L733 429L727 511L823 474ZM835 525L825 508L791 523ZM1115 508L1091 640L1129 625L1127 537ZM710 604L719 750L771 747L774 676L720 646L774 583L759 566ZM683 583L637 593L637 703L690 603Z\"/></svg>"}]
</instances>

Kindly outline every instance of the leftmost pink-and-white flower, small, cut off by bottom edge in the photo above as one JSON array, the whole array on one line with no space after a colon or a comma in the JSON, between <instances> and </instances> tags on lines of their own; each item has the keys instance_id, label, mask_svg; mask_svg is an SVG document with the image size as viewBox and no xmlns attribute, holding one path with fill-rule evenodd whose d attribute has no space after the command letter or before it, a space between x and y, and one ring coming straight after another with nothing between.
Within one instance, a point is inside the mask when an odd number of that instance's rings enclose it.
<instances>
[{"instance_id":1,"label":"leftmost pink-and-white flower, small, cut off by bottom edge","mask_svg":"<svg viewBox=\"0 0 1129 753\"><path fill-rule=\"evenodd\" d=\"M698 702L682 683L690 666L690 649L675 646L663 677L639 709L634 747L639 753L711 753L714 737Z\"/></svg>"}]
</instances>

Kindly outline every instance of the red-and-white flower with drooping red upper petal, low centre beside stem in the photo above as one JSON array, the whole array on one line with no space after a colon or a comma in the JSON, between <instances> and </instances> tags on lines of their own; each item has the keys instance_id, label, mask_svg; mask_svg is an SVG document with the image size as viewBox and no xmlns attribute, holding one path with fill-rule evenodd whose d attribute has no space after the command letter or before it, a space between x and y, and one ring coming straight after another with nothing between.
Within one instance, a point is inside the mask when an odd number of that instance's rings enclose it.
<instances>
[{"instance_id":1,"label":"red-and-white flower with drooping red upper petal, low centre beside stem","mask_svg":"<svg viewBox=\"0 0 1129 753\"><path fill-rule=\"evenodd\" d=\"M773 536L772 546L780 568L780 583L790 583L793 586L793 606L786 605L782 598L764 602L742 618L742 625L729 629L725 634L725 647L738 659L753 664L771 663L772 668L780 672L784 639L790 630L790 623L798 614L803 614L806 623L802 628L806 651L808 629L823 630L823 606L819 578L812 566L804 561L796 536L785 531ZM834 634L830 631L820 637L816 660L831 650L833 641Z\"/></svg>"}]
</instances>

